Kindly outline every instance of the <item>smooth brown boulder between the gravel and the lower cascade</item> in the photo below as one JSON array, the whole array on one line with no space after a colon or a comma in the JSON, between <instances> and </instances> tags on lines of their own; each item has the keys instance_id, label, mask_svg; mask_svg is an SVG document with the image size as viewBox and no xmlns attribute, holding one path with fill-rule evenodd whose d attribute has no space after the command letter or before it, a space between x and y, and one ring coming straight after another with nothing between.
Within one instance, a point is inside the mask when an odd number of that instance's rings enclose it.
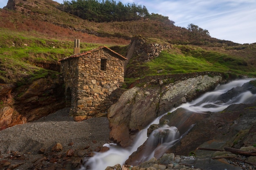
<instances>
[{"instance_id":1,"label":"smooth brown boulder between the gravel and the lower cascade","mask_svg":"<svg viewBox=\"0 0 256 170\"><path fill-rule=\"evenodd\" d=\"M144 128L157 117L157 103L160 97L158 90L148 88L143 91L134 87L125 91L108 112L112 128L110 138L115 139L121 146L129 146L132 142L130 132Z\"/></svg>"}]
</instances>

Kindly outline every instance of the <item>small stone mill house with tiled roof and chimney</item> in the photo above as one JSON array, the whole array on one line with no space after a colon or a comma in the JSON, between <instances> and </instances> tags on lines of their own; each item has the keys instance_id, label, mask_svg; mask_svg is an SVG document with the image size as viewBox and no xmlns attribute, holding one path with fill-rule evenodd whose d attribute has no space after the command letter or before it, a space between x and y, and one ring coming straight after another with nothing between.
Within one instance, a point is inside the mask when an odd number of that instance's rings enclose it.
<instances>
[{"instance_id":1,"label":"small stone mill house with tiled roof and chimney","mask_svg":"<svg viewBox=\"0 0 256 170\"><path fill-rule=\"evenodd\" d=\"M76 120L89 119L106 112L108 97L124 83L124 61L106 46L80 53L75 40L74 55L61 62L65 83L66 107Z\"/></svg>"}]
</instances>

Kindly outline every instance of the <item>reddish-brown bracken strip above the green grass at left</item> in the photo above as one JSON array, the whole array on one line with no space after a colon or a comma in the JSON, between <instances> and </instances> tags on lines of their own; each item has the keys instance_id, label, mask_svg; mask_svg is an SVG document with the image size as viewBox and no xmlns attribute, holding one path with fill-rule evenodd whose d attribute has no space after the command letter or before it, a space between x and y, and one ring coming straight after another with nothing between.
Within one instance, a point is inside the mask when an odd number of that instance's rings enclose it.
<instances>
[{"instance_id":1,"label":"reddish-brown bracken strip above the green grass at left","mask_svg":"<svg viewBox=\"0 0 256 170\"><path fill-rule=\"evenodd\" d=\"M20 15L20 13L10 10L0 9L0 29L9 31L22 32L26 36L34 36L45 39L72 41L79 38L81 42L95 44L129 44L129 40L113 37L97 37L88 33L72 31L50 22L33 20Z\"/></svg>"}]
</instances>

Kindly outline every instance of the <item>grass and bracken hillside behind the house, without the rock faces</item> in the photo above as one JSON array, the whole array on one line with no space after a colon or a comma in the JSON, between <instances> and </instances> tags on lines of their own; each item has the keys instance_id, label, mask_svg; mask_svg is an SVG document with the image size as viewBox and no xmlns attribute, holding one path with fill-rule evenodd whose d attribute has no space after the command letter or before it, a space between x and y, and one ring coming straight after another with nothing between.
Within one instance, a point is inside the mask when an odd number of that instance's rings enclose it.
<instances>
[{"instance_id":1,"label":"grass and bracken hillside behind the house, without the rock faces","mask_svg":"<svg viewBox=\"0 0 256 170\"><path fill-rule=\"evenodd\" d=\"M34 5L30 1L18 1L16 11L0 9L0 83L29 82L58 74L41 68L40 63L58 64L59 59L71 55L75 38L81 40L81 51L87 51L99 45L124 46L130 41L121 36L138 34L174 44L172 50L163 51L155 60L135 64L138 72L147 70L140 73L142 76L145 73L223 71L256 77L256 44L236 44L210 37L191 38L184 28L150 20L88 22L56 9L59 4L51 0L36 1ZM103 33L108 37L70 28ZM114 36L116 34L120 37ZM126 49L120 48L120 52L125 55Z\"/></svg>"}]
</instances>

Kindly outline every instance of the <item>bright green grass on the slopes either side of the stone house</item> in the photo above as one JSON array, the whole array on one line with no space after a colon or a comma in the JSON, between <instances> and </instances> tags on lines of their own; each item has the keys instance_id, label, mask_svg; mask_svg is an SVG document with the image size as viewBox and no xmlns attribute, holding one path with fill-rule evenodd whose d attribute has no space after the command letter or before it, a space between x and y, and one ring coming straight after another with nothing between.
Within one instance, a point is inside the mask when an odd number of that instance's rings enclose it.
<instances>
[{"instance_id":1,"label":"bright green grass on the slopes either side of the stone house","mask_svg":"<svg viewBox=\"0 0 256 170\"><path fill-rule=\"evenodd\" d=\"M0 39L0 83L22 85L40 77L56 76L58 72L46 70L39 65L42 63L58 65L58 60L73 53L73 41L37 38L26 32L7 29L0 29L0 33L2 35ZM164 40L156 38L146 40L146 43L164 44ZM98 46L100 44L81 43L80 47L83 52ZM112 49L125 56L128 45L113 46ZM138 63L138 57L140 56L133 57L127 66L128 69L133 70L134 77L201 71L218 71L256 77L256 68L249 64L246 57L210 51L198 46L173 45L172 49L162 51L154 60L144 63ZM131 84L135 79L125 79L125 81Z\"/></svg>"}]
</instances>

